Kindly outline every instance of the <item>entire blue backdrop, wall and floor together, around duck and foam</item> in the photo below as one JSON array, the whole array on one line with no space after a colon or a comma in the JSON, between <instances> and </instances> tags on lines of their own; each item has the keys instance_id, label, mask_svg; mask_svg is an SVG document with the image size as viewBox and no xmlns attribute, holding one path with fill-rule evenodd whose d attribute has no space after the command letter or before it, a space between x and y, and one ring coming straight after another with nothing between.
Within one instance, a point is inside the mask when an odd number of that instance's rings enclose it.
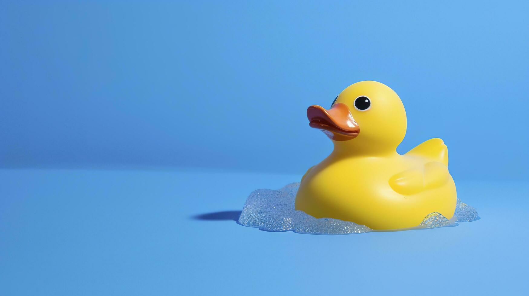
<instances>
[{"instance_id":1,"label":"entire blue backdrop, wall and floor together, around duck and foam","mask_svg":"<svg viewBox=\"0 0 529 296\"><path fill-rule=\"evenodd\" d=\"M528 13L1 1L0 294L526 292ZM443 138L482 219L332 237L236 225L253 189L330 153L306 107L361 80L402 98L399 152Z\"/></svg>"}]
</instances>

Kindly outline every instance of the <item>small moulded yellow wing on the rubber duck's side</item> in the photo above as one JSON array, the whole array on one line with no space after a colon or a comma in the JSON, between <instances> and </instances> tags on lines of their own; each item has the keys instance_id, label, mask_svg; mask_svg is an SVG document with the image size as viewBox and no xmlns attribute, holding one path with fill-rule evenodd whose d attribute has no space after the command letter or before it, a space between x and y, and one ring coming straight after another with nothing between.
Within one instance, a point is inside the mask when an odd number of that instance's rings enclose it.
<instances>
[{"instance_id":1,"label":"small moulded yellow wing on the rubber duck's side","mask_svg":"<svg viewBox=\"0 0 529 296\"><path fill-rule=\"evenodd\" d=\"M431 161L425 163L422 168L409 169L393 175L389 178L389 186L402 195L412 195L442 186L449 175L446 165Z\"/></svg>"}]
</instances>

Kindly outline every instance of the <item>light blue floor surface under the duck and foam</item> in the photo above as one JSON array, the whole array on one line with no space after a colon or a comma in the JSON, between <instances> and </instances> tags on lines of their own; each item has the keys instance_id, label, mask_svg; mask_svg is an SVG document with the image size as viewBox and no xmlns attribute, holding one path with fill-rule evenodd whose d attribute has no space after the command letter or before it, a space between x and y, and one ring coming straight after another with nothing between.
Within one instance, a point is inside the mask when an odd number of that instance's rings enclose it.
<instances>
[{"instance_id":1,"label":"light blue floor surface under the duck and foam","mask_svg":"<svg viewBox=\"0 0 529 296\"><path fill-rule=\"evenodd\" d=\"M2 170L0 294L527 293L528 183L457 182L481 219L428 230L271 233L212 214L240 210L253 189L298 179Z\"/></svg>"}]
</instances>

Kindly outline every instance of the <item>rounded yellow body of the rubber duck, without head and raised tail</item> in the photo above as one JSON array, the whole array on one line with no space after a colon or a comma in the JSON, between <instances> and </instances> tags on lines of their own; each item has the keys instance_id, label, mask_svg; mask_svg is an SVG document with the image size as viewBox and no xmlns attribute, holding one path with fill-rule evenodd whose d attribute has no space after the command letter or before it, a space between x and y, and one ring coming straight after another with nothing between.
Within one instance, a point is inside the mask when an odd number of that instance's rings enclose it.
<instances>
[{"instance_id":1,"label":"rounded yellow body of the rubber duck, without head and raised tail","mask_svg":"<svg viewBox=\"0 0 529 296\"><path fill-rule=\"evenodd\" d=\"M451 218L455 195L454 181L439 159L333 152L304 175L296 209L372 229L399 229L418 226L432 212Z\"/></svg>"}]
</instances>

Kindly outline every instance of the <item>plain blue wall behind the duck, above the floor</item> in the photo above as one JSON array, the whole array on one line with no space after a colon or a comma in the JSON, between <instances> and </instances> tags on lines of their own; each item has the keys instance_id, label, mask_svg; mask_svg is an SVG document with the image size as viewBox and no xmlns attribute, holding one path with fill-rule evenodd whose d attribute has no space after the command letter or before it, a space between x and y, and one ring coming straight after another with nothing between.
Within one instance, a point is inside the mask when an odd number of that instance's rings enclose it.
<instances>
[{"instance_id":1,"label":"plain blue wall behind the duck, above the floor","mask_svg":"<svg viewBox=\"0 0 529 296\"><path fill-rule=\"evenodd\" d=\"M0 165L303 174L331 149L306 108L377 80L406 107L400 152L441 137L455 179L527 179L527 11L526 1L2 1Z\"/></svg>"}]
</instances>

